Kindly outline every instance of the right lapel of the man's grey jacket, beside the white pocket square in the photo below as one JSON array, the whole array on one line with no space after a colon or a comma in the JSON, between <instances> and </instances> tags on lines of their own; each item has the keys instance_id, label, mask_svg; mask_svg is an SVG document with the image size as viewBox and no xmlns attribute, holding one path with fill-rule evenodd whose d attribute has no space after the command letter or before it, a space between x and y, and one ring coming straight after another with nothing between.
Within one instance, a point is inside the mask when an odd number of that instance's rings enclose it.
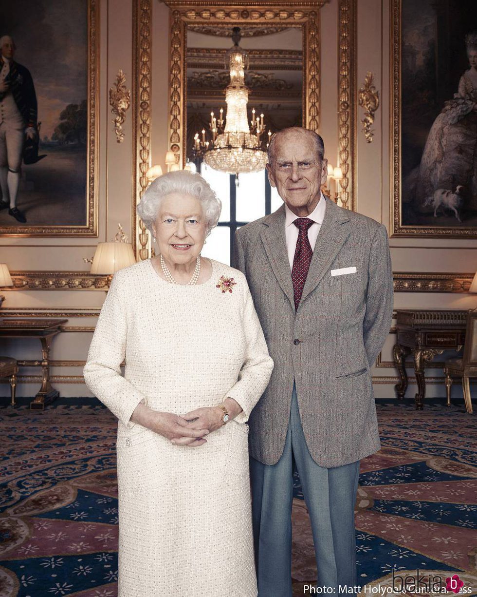
<instances>
[{"instance_id":1,"label":"right lapel of the man's grey jacket, beside the white pocket square","mask_svg":"<svg viewBox=\"0 0 477 597\"><path fill-rule=\"evenodd\" d=\"M346 210L340 209L333 201L326 199L324 219L318 233L300 304L320 284L349 233L349 217L346 215Z\"/></svg>"}]
</instances>

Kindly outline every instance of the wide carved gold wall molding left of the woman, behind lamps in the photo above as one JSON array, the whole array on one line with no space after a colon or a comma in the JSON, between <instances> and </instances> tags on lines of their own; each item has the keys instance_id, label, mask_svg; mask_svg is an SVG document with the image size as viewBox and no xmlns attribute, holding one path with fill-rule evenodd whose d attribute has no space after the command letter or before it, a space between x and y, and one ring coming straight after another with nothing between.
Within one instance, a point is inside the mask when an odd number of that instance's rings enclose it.
<instances>
[{"instance_id":1,"label":"wide carved gold wall molding left of the woman, behind lamps","mask_svg":"<svg viewBox=\"0 0 477 597\"><path fill-rule=\"evenodd\" d=\"M5 289L5 293L15 290L106 291L111 279L111 276L92 276L89 272L10 272L10 275L13 287Z\"/></svg>"}]
</instances>

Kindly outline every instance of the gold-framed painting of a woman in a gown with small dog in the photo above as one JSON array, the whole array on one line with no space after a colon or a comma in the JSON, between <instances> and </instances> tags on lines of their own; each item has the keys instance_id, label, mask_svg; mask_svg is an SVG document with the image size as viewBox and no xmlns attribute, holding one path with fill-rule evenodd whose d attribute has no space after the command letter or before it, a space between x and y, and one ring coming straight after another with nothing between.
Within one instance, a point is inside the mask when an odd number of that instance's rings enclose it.
<instances>
[{"instance_id":1,"label":"gold-framed painting of a woman in a gown with small dog","mask_svg":"<svg viewBox=\"0 0 477 597\"><path fill-rule=\"evenodd\" d=\"M454 29L461 33L457 39L441 33L432 4L391 0L391 236L477 238L477 195L469 177L459 172L460 158L465 157L461 150L469 146L469 140L460 142L460 137L469 136L471 127L461 120L461 130L451 130L456 125L444 122L446 112L452 120L451 112L457 115L462 109L458 104L466 101L461 94L468 67L464 39L466 32L477 29L477 17L470 0L463 4L470 15L464 23L457 22L461 10L450 11ZM475 171L475 155L473 159Z\"/></svg>"}]
</instances>

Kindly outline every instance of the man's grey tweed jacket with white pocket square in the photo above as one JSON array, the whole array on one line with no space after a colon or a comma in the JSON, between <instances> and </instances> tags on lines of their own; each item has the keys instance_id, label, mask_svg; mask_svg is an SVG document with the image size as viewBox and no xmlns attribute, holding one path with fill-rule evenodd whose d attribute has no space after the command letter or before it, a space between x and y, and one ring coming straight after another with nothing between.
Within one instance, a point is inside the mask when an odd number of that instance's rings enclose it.
<instances>
[{"instance_id":1,"label":"man's grey tweed jacket with white pocket square","mask_svg":"<svg viewBox=\"0 0 477 597\"><path fill-rule=\"evenodd\" d=\"M270 383L252 411L250 455L275 464L285 445L296 383L306 444L323 467L379 450L370 367L391 326L393 291L385 226L326 199L298 310L285 241L285 206L236 233L270 356ZM333 272L356 267L355 273Z\"/></svg>"}]
</instances>

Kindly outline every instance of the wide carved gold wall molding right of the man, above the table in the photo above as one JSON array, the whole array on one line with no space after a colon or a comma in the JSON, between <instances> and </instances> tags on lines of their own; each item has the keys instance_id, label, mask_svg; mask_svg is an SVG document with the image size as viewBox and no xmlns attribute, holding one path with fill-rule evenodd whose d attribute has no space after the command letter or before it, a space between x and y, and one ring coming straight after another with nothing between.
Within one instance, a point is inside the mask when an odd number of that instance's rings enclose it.
<instances>
[{"instance_id":1,"label":"wide carved gold wall molding right of the man, above the table","mask_svg":"<svg viewBox=\"0 0 477 597\"><path fill-rule=\"evenodd\" d=\"M397 293L468 293L473 273L394 272Z\"/></svg>"}]
</instances>

